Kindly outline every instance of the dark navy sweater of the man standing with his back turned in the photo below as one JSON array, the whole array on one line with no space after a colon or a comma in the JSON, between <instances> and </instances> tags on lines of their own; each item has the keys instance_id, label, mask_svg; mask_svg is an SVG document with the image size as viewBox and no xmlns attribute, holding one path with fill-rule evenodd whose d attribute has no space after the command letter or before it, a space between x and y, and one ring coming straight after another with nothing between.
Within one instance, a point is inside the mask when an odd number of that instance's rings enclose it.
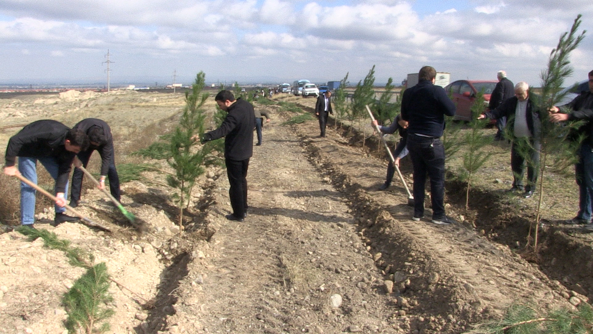
<instances>
[{"instance_id":1,"label":"dark navy sweater of the man standing with his back turned","mask_svg":"<svg viewBox=\"0 0 593 334\"><path fill-rule=\"evenodd\" d=\"M455 115L455 105L440 86L420 80L404 90L401 97L401 119L409 122L408 133L441 137L445 115Z\"/></svg>"}]
</instances>

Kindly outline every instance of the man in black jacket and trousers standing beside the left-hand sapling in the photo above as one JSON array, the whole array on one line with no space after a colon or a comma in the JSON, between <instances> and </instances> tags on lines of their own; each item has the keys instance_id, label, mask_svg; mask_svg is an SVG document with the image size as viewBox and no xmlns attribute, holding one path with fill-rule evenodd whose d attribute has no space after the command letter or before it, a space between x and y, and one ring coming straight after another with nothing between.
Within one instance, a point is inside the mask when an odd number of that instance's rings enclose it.
<instances>
[{"instance_id":1,"label":"man in black jacket and trousers standing beside the left-hand sapling","mask_svg":"<svg viewBox=\"0 0 593 334\"><path fill-rule=\"evenodd\" d=\"M224 157L232 206L232 215L225 217L243 222L247 216L247 168L253 155L253 127L256 124L253 105L241 98L235 100L229 90L222 90L214 100L228 114L220 127L205 133L201 141L205 143L225 137Z\"/></svg>"}]
</instances>

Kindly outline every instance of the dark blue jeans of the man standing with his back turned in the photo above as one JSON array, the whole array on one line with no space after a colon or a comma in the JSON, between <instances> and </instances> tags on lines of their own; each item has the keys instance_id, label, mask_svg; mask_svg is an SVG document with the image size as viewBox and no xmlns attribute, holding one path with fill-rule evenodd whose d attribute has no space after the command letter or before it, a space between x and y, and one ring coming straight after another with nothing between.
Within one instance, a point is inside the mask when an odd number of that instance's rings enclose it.
<instances>
[{"instance_id":1,"label":"dark blue jeans of the man standing with his back turned","mask_svg":"<svg viewBox=\"0 0 593 334\"><path fill-rule=\"evenodd\" d=\"M428 138L408 134L407 147L410 150L414 168L414 216L424 215L424 185L426 175L431 178L432 218L445 216L445 147L439 138Z\"/></svg>"}]
</instances>

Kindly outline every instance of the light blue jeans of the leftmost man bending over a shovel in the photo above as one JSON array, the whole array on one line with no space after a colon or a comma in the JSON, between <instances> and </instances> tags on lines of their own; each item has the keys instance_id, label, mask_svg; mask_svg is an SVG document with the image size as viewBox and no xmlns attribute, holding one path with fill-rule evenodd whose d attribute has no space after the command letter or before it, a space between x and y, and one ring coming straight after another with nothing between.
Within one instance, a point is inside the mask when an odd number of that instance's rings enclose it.
<instances>
[{"instance_id":1,"label":"light blue jeans of the leftmost man bending over a shovel","mask_svg":"<svg viewBox=\"0 0 593 334\"><path fill-rule=\"evenodd\" d=\"M53 157L18 157L18 171L24 178L37 184L37 160L47 169L53 179L58 178L58 161ZM30 225L35 222L35 188L21 181L21 224ZM68 198L68 183L64 198ZM56 213L65 212L65 207L55 205Z\"/></svg>"}]
</instances>

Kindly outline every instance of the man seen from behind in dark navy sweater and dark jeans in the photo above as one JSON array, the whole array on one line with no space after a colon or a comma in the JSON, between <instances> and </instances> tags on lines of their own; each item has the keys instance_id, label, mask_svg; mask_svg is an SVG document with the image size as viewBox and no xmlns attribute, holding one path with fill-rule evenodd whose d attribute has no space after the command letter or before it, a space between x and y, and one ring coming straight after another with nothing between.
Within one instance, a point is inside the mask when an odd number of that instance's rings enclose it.
<instances>
[{"instance_id":1,"label":"man seen from behind in dark navy sweater and dark jeans","mask_svg":"<svg viewBox=\"0 0 593 334\"><path fill-rule=\"evenodd\" d=\"M418 83L401 97L401 119L408 121L407 148L414 168L414 215L424 217L424 185L431 178L431 222L449 225L455 220L445 215L445 148L440 137L445 115L455 115L455 105L442 87L435 86L436 71L425 66L418 73Z\"/></svg>"}]
</instances>

